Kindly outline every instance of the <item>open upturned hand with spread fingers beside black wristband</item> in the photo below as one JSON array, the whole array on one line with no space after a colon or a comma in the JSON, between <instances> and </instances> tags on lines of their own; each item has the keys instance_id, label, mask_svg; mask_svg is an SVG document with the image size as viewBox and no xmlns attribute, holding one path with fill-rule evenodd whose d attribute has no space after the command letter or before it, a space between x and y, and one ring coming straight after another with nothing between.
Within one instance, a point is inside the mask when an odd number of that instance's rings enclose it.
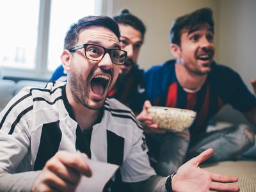
<instances>
[{"instance_id":1,"label":"open upturned hand with spread fingers beside black wristband","mask_svg":"<svg viewBox=\"0 0 256 192\"><path fill-rule=\"evenodd\" d=\"M239 191L239 187L225 182L237 182L237 177L211 173L199 168L199 164L209 159L212 148L205 150L199 156L180 166L172 180L173 191Z\"/></svg>"}]
</instances>

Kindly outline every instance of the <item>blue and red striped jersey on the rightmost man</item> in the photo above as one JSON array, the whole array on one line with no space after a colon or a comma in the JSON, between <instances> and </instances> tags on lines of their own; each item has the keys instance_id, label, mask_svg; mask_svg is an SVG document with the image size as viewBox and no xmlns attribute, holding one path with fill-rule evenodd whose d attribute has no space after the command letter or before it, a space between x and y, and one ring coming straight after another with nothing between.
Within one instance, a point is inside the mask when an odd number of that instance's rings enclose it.
<instances>
[{"instance_id":1,"label":"blue and red striped jersey on the rightmost man","mask_svg":"<svg viewBox=\"0 0 256 192\"><path fill-rule=\"evenodd\" d=\"M148 99L153 105L196 111L195 122L189 128L191 134L205 132L209 120L225 104L241 112L256 106L255 95L239 74L215 62L202 88L195 93L188 93L180 86L175 74L175 60L149 68L144 79Z\"/></svg>"}]
</instances>

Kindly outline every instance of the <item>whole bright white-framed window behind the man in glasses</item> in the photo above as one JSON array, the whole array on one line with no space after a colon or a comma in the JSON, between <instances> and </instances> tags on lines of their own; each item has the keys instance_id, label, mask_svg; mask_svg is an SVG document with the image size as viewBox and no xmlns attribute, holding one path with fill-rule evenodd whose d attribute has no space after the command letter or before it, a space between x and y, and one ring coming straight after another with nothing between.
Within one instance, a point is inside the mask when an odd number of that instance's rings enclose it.
<instances>
[{"instance_id":1,"label":"whole bright white-framed window behind the man in glasses","mask_svg":"<svg viewBox=\"0 0 256 192\"><path fill-rule=\"evenodd\" d=\"M48 78L61 63L70 24L86 15L100 15L101 3L101 0L5 1L0 6L2 76Z\"/></svg>"}]
</instances>

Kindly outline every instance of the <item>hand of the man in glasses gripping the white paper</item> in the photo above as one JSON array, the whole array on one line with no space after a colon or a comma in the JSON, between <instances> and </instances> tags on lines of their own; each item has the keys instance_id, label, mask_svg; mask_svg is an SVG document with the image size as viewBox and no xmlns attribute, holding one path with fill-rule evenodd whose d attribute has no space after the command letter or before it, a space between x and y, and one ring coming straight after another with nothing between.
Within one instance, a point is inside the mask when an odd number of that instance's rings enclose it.
<instances>
[{"instance_id":1,"label":"hand of the man in glasses gripping the white paper","mask_svg":"<svg viewBox=\"0 0 256 192\"><path fill-rule=\"evenodd\" d=\"M47 161L31 191L75 191L82 175L92 176L83 159L78 154L60 151Z\"/></svg>"}]
</instances>

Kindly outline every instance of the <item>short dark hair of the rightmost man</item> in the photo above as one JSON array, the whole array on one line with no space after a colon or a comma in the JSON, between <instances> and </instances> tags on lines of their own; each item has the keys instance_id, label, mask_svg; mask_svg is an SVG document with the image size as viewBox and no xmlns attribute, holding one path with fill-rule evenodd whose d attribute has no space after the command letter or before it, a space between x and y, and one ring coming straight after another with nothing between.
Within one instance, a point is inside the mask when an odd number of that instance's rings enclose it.
<instances>
[{"instance_id":1,"label":"short dark hair of the rightmost man","mask_svg":"<svg viewBox=\"0 0 256 192\"><path fill-rule=\"evenodd\" d=\"M180 46L180 36L182 29L192 29L198 24L209 24L214 33L214 21L212 19L211 8L201 8L195 12L178 17L170 29L170 42Z\"/></svg>"}]
</instances>

